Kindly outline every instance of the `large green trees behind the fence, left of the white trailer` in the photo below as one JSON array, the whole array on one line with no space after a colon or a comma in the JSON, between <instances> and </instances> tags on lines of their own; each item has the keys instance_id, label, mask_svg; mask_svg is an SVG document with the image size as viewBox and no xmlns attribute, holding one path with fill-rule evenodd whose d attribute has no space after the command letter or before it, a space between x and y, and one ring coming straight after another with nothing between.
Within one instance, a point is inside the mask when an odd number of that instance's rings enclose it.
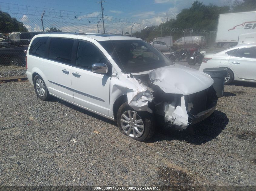
<instances>
[{"instance_id":1,"label":"large green trees behind the fence, left of the white trailer","mask_svg":"<svg viewBox=\"0 0 256 191\"><path fill-rule=\"evenodd\" d=\"M253 1L253 0L244 0ZM255 1L255 0L254 0ZM147 40L148 42L153 40L153 36L170 36L170 31L161 31L161 27L168 28L193 28L193 29L203 29L203 30L217 30L219 14L229 13L229 6L217 6L217 5L204 5L202 2L194 1L190 8L182 9L181 12L176 16L176 19L170 19L164 23L161 23L153 32L155 26L149 29L143 29L141 32L135 32L132 36ZM154 33L154 35L153 35ZM173 39L177 40L182 37L183 33L172 33Z\"/></svg>"}]
</instances>

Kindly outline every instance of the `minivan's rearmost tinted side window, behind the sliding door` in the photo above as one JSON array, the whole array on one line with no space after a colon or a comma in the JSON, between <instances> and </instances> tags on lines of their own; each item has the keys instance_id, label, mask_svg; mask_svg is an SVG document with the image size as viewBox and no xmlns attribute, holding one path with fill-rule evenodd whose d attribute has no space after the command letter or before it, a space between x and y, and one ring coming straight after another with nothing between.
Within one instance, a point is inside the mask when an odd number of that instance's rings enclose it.
<instances>
[{"instance_id":1,"label":"minivan's rearmost tinted side window, behind the sliding door","mask_svg":"<svg viewBox=\"0 0 256 191\"><path fill-rule=\"evenodd\" d=\"M29 54L44 58L47 39L48 37L35 38L30 45Z\"/></svg>"}]
</instances>

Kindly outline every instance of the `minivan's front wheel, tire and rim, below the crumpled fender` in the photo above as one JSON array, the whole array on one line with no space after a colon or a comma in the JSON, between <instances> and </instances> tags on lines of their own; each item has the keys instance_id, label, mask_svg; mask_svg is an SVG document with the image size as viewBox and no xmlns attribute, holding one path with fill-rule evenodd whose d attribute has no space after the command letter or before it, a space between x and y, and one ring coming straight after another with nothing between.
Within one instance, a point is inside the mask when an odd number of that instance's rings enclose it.
<instances>
[{"instance_id":1,"label":"minivan's front wheel, tire and rim, below the crumpled fender","mask_svg":"<svg viewBox=\"0 0 256 191\"><path fill-rule=\"evenodd\" d=\"M117 124L121 133L138 141L146 141L155 133L155 119L151 113L133 110L127 102L117 112Z\"/></svg>"}]
</instances>

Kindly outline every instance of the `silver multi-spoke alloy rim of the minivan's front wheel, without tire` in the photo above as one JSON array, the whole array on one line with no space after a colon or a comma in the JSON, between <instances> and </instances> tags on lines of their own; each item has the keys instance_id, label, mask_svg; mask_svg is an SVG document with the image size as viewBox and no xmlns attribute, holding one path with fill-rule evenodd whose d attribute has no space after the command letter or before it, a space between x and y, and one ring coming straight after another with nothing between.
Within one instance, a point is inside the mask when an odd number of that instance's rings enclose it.
<instances>
[{"instance_id":1,"label":"silver multi-spoke alloy rim of the minivan's front wheel, without tire","mask_svg":"<svg viewBox=\"0 0 256 191\"><path fill-rule=\"evenodd\" d=\"M135 111L125 111L121 115L121 127L126 135L138 138L144 132L144 123L141 117Z\"/></svg>"}]
</instances>

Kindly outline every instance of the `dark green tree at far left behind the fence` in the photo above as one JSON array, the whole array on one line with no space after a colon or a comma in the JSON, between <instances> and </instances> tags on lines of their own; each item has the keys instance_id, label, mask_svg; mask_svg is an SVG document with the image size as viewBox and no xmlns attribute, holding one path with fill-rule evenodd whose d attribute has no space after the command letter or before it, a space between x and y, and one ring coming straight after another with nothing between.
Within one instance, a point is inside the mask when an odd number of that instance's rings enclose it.
<instances>
[{"instance_id":1,"label":"dark green tree at far left behind the fence","mask_svg":"<svg viewBox=\"0 0 256 191\"><path fill-rule=\"evenodd\" d=\"M0 33L28 32L28 29L10 14L0 11Z\"/></svg>"}]
</instances>

